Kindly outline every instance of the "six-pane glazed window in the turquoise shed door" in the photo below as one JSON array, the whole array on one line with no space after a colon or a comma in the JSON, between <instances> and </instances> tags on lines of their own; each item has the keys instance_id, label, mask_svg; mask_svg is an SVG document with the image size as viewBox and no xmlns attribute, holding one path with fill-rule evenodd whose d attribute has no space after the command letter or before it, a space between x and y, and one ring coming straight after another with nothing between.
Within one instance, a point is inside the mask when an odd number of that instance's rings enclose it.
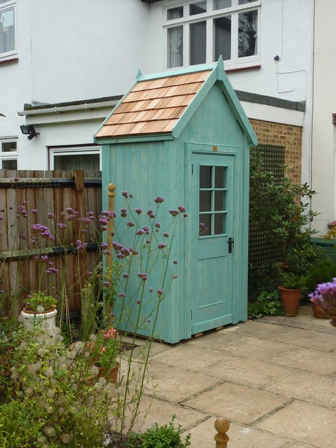
<instances>
[{"instance_id":1,"label":"six-pane glazed window in the turquoise shed door","mask_svg":"<svg viewBox=\"0 0 336 448\"><path fill-rule=\"evenodd\" d=\"M200 165L200 237L226 234L228 167Z\"/></svg>"}]
</instances>

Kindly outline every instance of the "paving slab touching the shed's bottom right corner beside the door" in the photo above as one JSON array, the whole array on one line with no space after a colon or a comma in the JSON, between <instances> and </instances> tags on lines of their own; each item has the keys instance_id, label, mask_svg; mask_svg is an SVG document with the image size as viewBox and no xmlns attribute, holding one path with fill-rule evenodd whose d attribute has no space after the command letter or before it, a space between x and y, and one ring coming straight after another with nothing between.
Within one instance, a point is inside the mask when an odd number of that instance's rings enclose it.
<instances>
[{"instance_id":1,"label":"paving slab touching the shed's bottom right corner beside the door","mask_svg":"<svg viewBox=\"0 0 336 448\"><path fill-rule=\"evenodd\" d=\"M273 325L267 322L247 321L237 325L230 325L230 327L220 331L272 341L276 337L290 334L295 329L288 328L284 325Z\"/></svg>"}]
</instances>

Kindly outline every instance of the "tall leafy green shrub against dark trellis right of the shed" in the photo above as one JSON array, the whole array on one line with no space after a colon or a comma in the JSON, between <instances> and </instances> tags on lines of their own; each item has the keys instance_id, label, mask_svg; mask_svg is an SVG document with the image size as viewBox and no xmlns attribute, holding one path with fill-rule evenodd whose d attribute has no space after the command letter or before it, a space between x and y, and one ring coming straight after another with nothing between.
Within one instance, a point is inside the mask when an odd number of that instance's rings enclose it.
<instances>
[{"instance_id":1,"label":"tall leafy green shrub against dark trellis right of the shed","mask_svg":"<svg viewBox=\"0 0 336 448\"><path fill-rule=\"evenodd\" d=\"M283 167L284 176L276 178L262 167L262 152L251 148L250 158L250 220L268 241L283 244L284 250L309 241L316 233L310 223L316 213L310 209L316 193L307 183L293 183L290 169ZM300 200L301 199L301 200Z\"/></svg>"}]
</instances>

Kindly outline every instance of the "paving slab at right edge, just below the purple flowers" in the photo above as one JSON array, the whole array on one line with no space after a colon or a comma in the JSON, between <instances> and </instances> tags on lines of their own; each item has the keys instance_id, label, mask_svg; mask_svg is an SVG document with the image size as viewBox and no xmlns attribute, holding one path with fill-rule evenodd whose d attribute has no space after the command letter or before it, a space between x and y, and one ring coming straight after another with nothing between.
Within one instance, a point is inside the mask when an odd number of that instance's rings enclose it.
<instances>
[{"instance_id":1,"label":"paving slab at right edge, just below the purple flowers","mask_svg":"<svg viewBox=\"0 0 336 448\"><path fill-rule=\"evenodd\" d=\"M279 335L276 337L276 341L306 349L328 352L336 348L336 331L335 335L326 335L323 332L296 329L287 334Z\"/></svg>"}]
</instances>

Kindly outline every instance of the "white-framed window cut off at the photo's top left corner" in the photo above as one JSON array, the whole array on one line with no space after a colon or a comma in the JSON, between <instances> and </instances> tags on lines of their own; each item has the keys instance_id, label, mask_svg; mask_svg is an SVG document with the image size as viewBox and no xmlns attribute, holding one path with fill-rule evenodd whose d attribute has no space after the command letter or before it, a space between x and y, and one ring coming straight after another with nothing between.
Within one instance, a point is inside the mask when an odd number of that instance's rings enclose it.
<instances>
[{"instance_id":1,"label":"white-framed window cut off at the photo's top left corner","mask_svg":"<svg viewBox=\"0 0 336 448\"><path fill-rule=\"evenodd\" d=\"M15 1L0 0L0 61L16 53Z\"/></svg>"}]
</instances>

